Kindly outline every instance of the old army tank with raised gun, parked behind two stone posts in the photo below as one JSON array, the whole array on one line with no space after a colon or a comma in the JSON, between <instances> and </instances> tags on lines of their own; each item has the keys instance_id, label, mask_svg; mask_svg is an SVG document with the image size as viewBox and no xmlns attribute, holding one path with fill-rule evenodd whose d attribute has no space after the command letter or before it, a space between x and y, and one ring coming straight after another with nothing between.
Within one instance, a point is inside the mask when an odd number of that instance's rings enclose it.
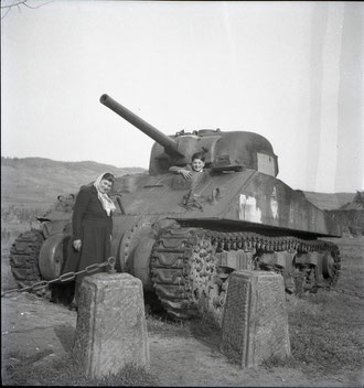
<instances>
[{"instance_id":1,"label":"old army tank with raised gun, parked behind two stone posts","mask_svg":"<svg viewBox=\"0 0 364 388\"><path fill-rule=\"evenodd\" d=\"M165 136L111 97L103 95L100 103L156 141L149 173L117 177L110 193L120 204L113 256L117 270L139 278L171 315L206 312L221 321L235 270L281 273L287 292L335 283L339 249L321 238L340 237L339 226L276 177L278 160L267 139L220 129ZM205 155L197 179L171 172L196 152ZM41 269L45 280L57 276L65 259L69 219L54 228L45 223L39 255L41 267L49 268L46 276ZM17 255L13 250L12 261Z\"/></svg>"}]
</instances>

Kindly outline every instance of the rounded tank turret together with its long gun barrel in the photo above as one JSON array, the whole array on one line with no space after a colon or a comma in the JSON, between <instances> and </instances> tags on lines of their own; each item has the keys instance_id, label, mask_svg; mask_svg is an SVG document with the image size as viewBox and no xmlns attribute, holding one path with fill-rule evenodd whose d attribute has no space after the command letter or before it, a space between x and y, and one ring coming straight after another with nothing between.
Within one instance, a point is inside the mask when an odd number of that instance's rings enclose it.
<instances>
[{"instance_id":1,"label":"rounded tank turret together with its long gun barrel","mask_svg":"<svg viewBox=\"0 0 364 388\"><path fill-rule=\"evenodd\" d=\"M165 136L108 95L103 95L100 103L156 141L149 164L149 173L152 175L167 173L171 165L190 163L195 152L203 152L206 166L214 171L239 171L247 168L272 176L278 174L277 157L269 141L260 134L201 129Z\"/></svg>"}]
</instances>

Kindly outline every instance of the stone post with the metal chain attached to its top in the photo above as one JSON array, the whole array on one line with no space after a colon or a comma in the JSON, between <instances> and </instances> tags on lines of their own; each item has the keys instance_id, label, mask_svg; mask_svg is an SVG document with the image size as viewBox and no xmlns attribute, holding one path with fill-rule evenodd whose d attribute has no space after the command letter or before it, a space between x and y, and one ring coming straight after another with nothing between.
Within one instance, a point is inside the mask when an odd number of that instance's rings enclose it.
<instances>
[{"instance_id":1,"label":"stone post with the metal chain attached to its top","mask_svg":"<svg viewBox=\"0 0 364 388\"><path fill-rule=\"evenodd\" d=\"M149 367L141 281L129 273L96 273L81 285L73 354L87 377Z\"/></svg>"}]
</instances>

